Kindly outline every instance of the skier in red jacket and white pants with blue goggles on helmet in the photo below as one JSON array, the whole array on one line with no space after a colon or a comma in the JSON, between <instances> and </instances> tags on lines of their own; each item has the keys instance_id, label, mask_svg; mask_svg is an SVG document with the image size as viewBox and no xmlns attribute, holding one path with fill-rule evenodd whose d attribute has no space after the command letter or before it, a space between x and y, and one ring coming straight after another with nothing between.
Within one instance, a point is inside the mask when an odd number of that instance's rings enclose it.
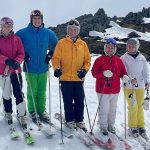
<instances>
[{"instance_id":1,"label":"skier in red jacket and white pants with blue goggles on helmet","mask_svg":"<svg viewBox=\"0 0 150 150\"><path fill-rule=\"evenodd\" d=\"M120 92L120 78L127 82L129 77L122 60L115 56L117 42L108 38L104 45L104 55L98 57L92 68L96 78L96 92L99 100L99 124L103 135L115 133L117 100Z\"/></svg>"}]
</instances>

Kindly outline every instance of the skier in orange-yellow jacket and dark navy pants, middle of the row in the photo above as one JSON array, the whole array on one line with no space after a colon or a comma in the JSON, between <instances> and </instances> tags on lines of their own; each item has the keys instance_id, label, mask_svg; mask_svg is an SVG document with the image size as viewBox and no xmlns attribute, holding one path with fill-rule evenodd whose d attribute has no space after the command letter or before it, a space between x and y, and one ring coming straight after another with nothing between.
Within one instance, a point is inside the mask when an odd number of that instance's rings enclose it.
<instances>
[{"instance_id":1,"label":"skier in orange-yellow jacket and dark navy pants, middle of the row","mask_svg":"<svg viewBox=\"0 0 150 150\"><path fill-rule=\"evenodd\" d=\"M60 79L65 120L70 128L86 130L84 115L84 77L90 68L87 44L78 36L80 24L69 21L67 36L59 40L52 57L54 76Z\"/></svg>"}]
</instances>

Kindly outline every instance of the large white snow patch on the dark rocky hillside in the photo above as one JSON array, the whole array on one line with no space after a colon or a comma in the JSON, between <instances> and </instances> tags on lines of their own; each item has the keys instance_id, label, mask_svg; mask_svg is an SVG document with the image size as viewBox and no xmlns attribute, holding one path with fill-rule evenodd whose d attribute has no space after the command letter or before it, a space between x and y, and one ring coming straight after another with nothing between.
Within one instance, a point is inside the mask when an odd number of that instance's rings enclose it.
<instances>
[{"instance_id":1,"label":"large white snow patch on the dark rocky hillside","mask_svg":"<svg viewBox=\"0 0 150 150\"><path fill-rule=\"evenodd\" d=\"M113 21L110 21L110 26L112 26L112 27L105 29L105 31L106 31L105 33L97 32L97 31L90 31L89 36L98 36L101 38L116 37L118 39L124 39L124 38L128 38L129 33L136 32L139 36L141 36L138 39L150 41L149 34L138 32L133 29L121 27L120 25L118 25L117 23L115 23Z\"/></svg>"}]
</instances>

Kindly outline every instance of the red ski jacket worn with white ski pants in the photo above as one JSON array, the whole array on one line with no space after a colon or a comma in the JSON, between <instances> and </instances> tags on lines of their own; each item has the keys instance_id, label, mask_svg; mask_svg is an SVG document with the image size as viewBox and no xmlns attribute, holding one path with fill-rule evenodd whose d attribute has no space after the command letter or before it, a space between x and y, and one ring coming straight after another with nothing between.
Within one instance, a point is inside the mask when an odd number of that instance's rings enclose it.
<instances>
[{"instance_id":1,"label":"red ski jacket worn with white ski pants","mask_svg":"<svg viewBox=\"0 0 150 150\"><path fill-rule=\"evenodd\" d=\"M104 77L103 72L111 70L113 76L109 79ZM92 75L96 78L96 92L102 94L115 94L120 92L120 78L126 75L126 69L118 56L100 56L92 68Z\"/></svg>"}]
</instances>

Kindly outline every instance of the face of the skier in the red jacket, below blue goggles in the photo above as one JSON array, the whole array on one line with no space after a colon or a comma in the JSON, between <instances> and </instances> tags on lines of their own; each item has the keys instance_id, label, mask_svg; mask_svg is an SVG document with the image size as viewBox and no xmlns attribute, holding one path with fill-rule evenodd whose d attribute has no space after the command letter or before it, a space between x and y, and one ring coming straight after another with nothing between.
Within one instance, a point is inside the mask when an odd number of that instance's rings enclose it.
<instances>
[{"instance_id":1,"label":"face of the skier in the red jacket, below blue goggles","mask_svg":"<svg viewBox=\"0 0 150 150\"><path fill-rule=\"evenodd\" d=\"M113 45L111 43L105 45L105 53L108 56L112 57L115 54L115 52L116 52L116 46L115 45Z\"/></svg>"}]
</instances>

